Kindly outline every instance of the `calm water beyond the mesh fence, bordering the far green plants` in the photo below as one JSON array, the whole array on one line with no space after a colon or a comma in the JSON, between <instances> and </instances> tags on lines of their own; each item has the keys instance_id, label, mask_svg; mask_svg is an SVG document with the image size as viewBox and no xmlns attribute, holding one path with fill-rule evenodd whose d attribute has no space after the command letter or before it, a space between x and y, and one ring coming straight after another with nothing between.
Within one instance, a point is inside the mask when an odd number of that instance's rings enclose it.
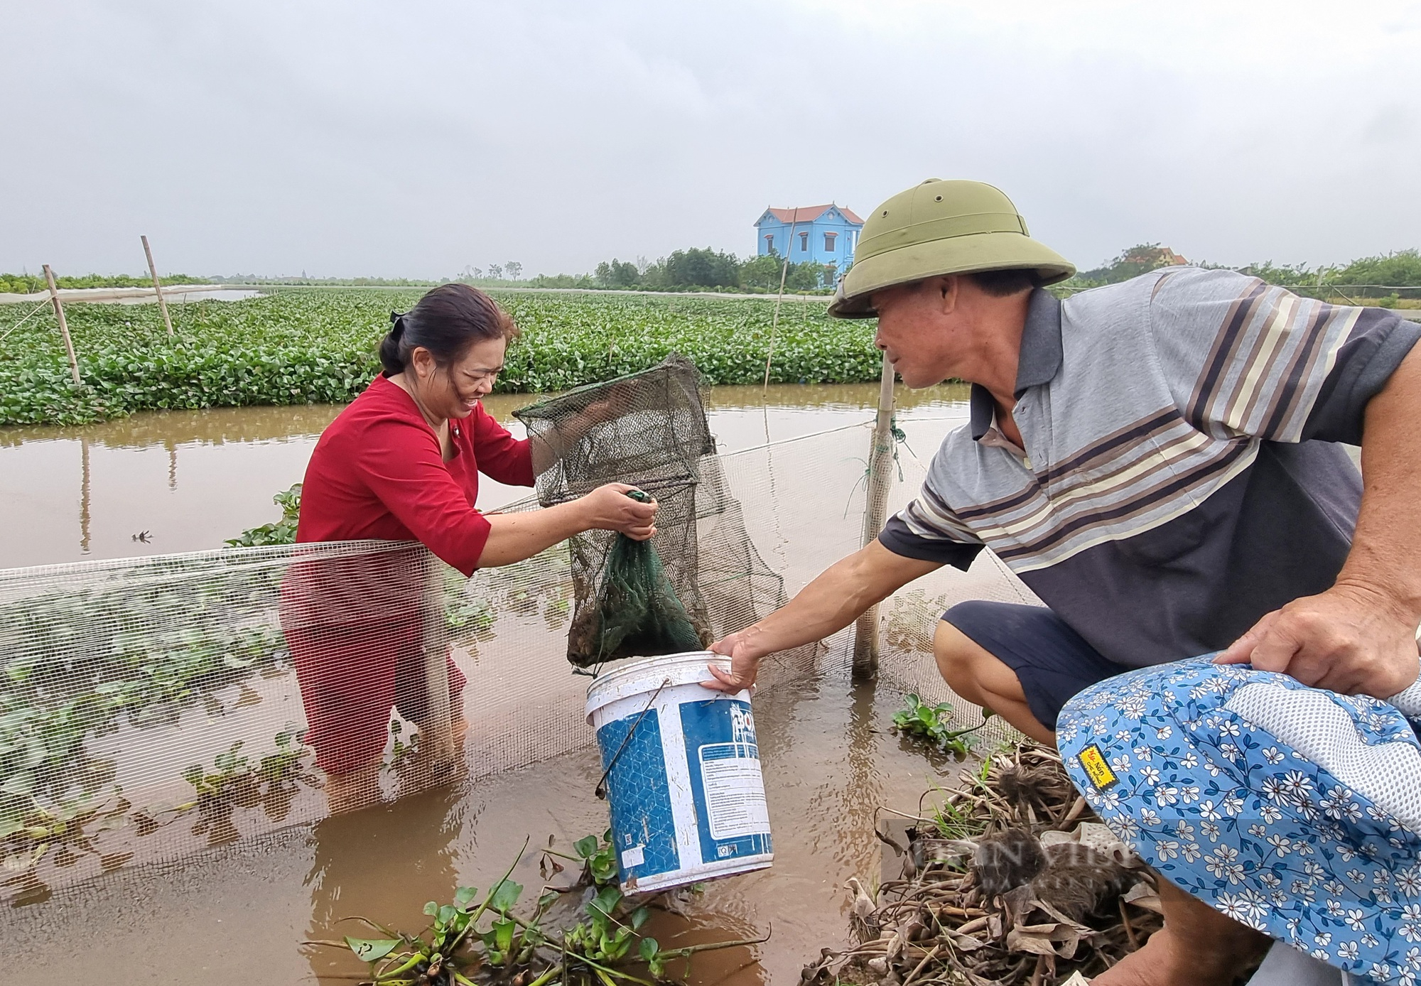
<instances>
[{"instance_id":1,"label":"calm water beyond the mesh fence, bordering the far green plants","mask_svg":"<svg viewBox=\"0 0 1421 986\"><path fill-rule=\"evenodd\" d=\"M877 385L713 388L706 401L722 449L861 421ZM898 388L904 418L962 413L962 386ZM487 408L522 435L524 394ZM0 429L0 568L199 551L280 511L271 494L301 480L337 405L151 412L85 428ZM485 479L479 506L527 490ZM144 540L138 540L142 537Z\"/></svg>"}]
</instances>

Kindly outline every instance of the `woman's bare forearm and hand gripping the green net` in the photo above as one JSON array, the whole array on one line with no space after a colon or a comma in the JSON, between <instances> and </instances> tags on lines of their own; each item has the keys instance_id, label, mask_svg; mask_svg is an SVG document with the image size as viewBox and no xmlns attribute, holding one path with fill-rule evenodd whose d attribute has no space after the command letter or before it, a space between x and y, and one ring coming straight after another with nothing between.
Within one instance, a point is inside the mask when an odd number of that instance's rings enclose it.
<instances>
[{"instance_id":1,"label":"woman's bare forearm and hand gripping the green net","mask_svg":"<svg viewBox=\"0 0 1421 986\"><path fill-rule=\"evenodd\" d=\"M556 507L489 516L489 538L479 556L479 568L531 558L587 530L615 530L638 541L647 540L657 533L657 503L632 500L627 496L631 489L625 483L608 483Z\"/></svg>"}]
</instances>

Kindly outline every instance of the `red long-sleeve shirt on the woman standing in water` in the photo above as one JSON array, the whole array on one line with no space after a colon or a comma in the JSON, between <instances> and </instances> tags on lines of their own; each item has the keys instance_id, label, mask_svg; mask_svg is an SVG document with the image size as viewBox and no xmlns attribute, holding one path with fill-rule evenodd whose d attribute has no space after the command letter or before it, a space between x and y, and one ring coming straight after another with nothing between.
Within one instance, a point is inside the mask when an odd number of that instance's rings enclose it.
<instances>
[{"instance_id":1,"label":"red long-sleeve shirt on the woman standing in water","mask_svg":"<svg viewBox=\"0 0 1421 986\"><path fill-rule=\"evenodd\" d=\"M533 456L527 439L509 435L482 403L449 421L449 439L455 456L445 462L414 398L377 376L315 443L296 540L418 540L473 574L489 540L489 521L475 510L479 473L531 486Z\"/></svg>"}]
</instances>

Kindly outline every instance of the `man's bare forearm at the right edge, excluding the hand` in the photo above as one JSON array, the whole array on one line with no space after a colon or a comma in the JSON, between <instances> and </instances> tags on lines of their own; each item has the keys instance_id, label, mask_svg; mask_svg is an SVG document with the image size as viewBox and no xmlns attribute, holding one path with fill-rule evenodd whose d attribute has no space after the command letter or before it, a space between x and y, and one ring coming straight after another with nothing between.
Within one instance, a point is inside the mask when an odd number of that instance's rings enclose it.
<instances>
[{"instance_id":1,"label":"man's bare forearm at the right edge, excluding the hand","mask_svg":"<svg viewBox=\"0 0 1421 986\"><path fill-rule=\"evenodd\" d=\"M1339 587L1374 592L1421 621L1421 345L1367 405L1363 494Z\"/></svg>"}]
</instances>

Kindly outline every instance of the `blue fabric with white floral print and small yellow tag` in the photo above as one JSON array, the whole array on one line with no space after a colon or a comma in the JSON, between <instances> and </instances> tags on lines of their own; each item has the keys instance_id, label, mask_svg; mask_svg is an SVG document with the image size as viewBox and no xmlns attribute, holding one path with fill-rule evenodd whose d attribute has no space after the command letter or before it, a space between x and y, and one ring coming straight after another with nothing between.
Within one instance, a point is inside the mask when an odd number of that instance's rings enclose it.
<instances>
[{"instance_id":1,"label":"blue fabric with white floral print and small yellow tag","mask_svg":"<svg viewBox=\"0 0 1421 986\"><path fill-rule=\"evenodd\" d=\"M1414 986L1421 835L1223 708L1253 682L1304 685L1212 658L1144 668L1073 698L1057 723L1071 780L1179 888L1349 973ZM1418 746L1385 702L1307 690L1347 713L1356 742Z\"/></svg>"}]
</instances>

